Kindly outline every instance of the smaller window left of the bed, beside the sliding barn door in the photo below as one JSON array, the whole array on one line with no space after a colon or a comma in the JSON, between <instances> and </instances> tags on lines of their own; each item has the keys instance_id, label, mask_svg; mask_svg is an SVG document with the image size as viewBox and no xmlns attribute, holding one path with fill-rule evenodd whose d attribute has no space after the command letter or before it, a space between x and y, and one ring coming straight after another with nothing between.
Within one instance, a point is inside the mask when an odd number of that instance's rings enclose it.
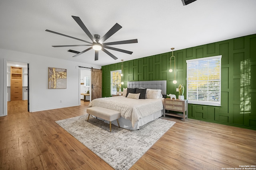
<instances>
[{"instance_id":1,"label":"smaller window left of the bed, beside the sliding barn door","mask_svg":"<svg viewBox=\"0 0 256 170\"><path fill-rule=\"evenodd\" d=\"M110 72L110 94L116 94L117 86L121 89L121 70Z\"/></svg>"}]
</instances>

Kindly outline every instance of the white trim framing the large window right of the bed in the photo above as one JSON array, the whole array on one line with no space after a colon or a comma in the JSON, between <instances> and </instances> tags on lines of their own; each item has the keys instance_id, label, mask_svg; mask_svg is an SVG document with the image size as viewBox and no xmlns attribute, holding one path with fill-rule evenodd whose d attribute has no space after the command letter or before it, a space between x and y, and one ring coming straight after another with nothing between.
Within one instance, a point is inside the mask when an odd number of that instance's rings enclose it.
<instances>
[{"instance_id":1,"label":"white trim framing the large window right of the bed","mask_svg":"<svg viewBox=\"0 0 256 170\"><path fill-rule=\"evenodd\" d=\"M188 77L189 77L189 72L188 72L188 66L187 66L187 87L186 87L186 90L187 90L187 93L186 93L186 97L188 99L188 103L189 104L200 104L200 105L209 105L209 106L221 106L221 58L222 58L222 55L218 55L218 56L213 56L213 57L204 57L204 58L199 58L199 59L191 59L191 60L187 60L186 63L188 65L188 63L191 63L191 62L196 62L196 61L206 61L206 60L212 60L212 59L220 59L220 79L219 79L219 101L217 102L214 102L214 101L201 101L201 100L191 100L189 99L189 91L188 91L188 88L189 88L189 83L190 81L188 81ZM208 90L208 89L207 89ZM198 95L197 95L198 96ZM209 99L209 98L208 98Z\"/></svg>"}]
</instances>

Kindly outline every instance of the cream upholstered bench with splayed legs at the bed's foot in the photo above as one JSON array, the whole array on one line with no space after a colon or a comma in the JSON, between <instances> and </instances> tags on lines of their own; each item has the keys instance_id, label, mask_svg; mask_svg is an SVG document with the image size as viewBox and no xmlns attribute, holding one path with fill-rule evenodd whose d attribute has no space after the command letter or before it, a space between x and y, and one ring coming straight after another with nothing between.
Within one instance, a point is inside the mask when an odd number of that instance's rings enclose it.
<instances>
[{"instance_id":1,"label":"cream upholstered bench with splayed legs at the bed's foot","mask_svg":"<svg viewBox=\"0 0 256 170\"><path fill-rule=\"evenodd\" d=\"M111 121L116 120L119 126L118 119L121 116L121 113L119 111L94 106L94 107L88 107L86 112L89 114L87 121L89 120L90 115L94 115L96 117L100 117L104 120L109 121L110 132L111 132Z\"/></svg>"}]
</instances>

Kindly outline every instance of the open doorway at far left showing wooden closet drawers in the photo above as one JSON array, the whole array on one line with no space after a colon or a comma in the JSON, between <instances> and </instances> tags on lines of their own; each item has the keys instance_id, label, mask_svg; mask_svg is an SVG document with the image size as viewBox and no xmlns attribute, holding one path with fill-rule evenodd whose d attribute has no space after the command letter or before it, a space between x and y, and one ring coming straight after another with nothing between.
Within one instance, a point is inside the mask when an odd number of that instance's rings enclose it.
<instances>
[{"instance_id":1,"label":"open doorway at far left showing wooden closet drawers","mask_svg":"<svg viewBox=\"0 0 256 170\"><path fill-rule=\"evenodd\" d=\"M22 75L21 75L21 82L22 85L20 86L19 90L11 90L11 67L16 68L22 68ZM16 61L6 61L6 98L5 98L5 106L7 107L5 109L5 115L8 115L8 110L10 107L20 107L27 108L27 111L29 111L29 64L28 63L22 63L22 62L16 62ZM16 93L16 91L20 91L18 100L13 100L13 95ZM11 97L12 96L12 97ZM25 106L26 105L26 106Z\"/></svg>"}]
</instances>

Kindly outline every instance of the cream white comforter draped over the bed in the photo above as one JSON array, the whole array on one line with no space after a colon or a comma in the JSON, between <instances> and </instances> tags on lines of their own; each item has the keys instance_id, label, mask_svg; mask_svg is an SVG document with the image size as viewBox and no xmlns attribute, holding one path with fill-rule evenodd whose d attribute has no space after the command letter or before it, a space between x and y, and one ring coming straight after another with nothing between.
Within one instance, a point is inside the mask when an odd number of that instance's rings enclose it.
<instances>
[{"instance_id":1,"label":"cream white comforter draped over the bed","mask_svg":"<svg viewBox=\"0 0 256 170\"><path fill-rule=\"evenodd\" d=\"M124 96L98 98L90 102L88 107L104 107L120 111L121 117L132 122L132 127L139 119L163 109L163 98L160 99L131 99Z\"/></svg>"}]
</instances>

